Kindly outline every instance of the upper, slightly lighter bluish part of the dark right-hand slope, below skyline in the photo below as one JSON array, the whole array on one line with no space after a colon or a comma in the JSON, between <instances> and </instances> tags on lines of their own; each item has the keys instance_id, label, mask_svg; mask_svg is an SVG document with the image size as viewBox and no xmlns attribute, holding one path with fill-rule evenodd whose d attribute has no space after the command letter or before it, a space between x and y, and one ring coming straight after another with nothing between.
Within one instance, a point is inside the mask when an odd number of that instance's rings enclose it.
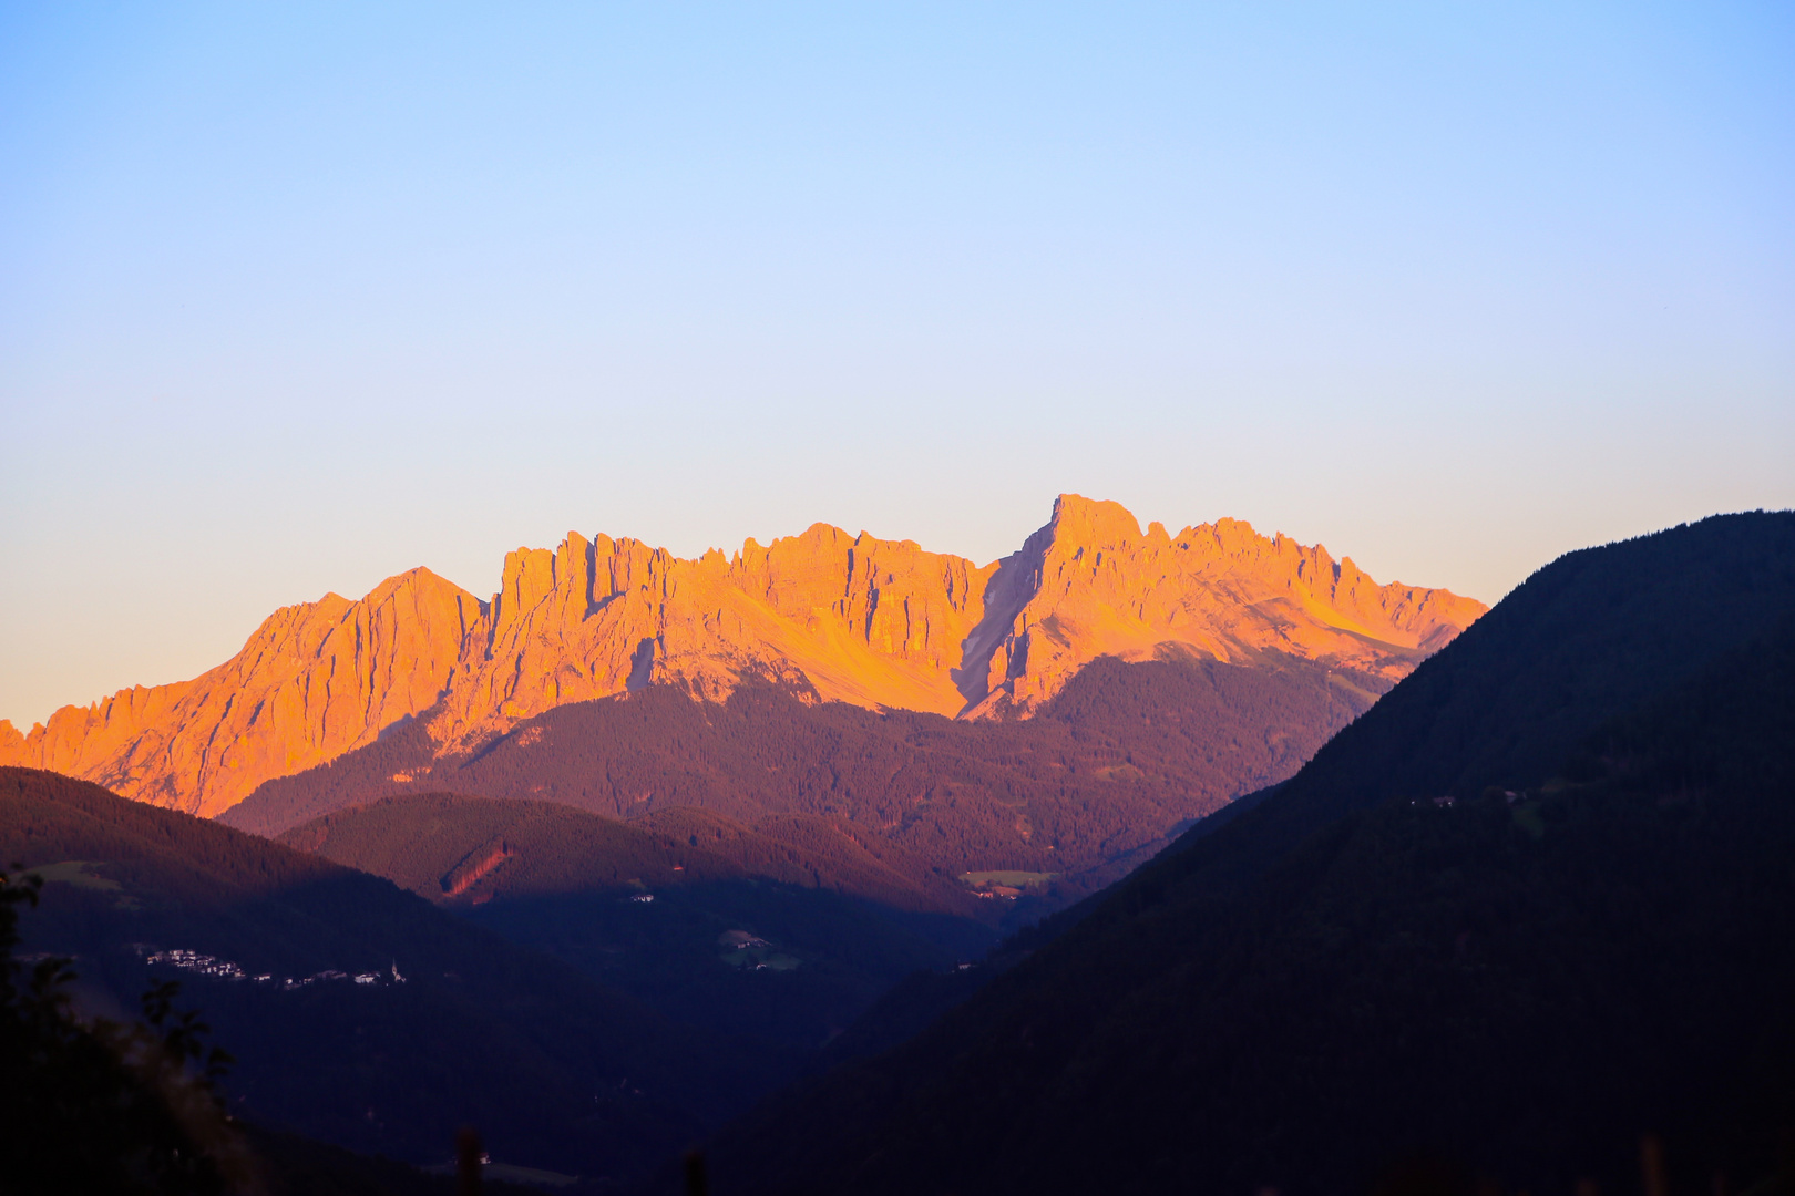
<instances>
[{"instance_id":1,"label":"upper, slightly lighter bluish part of the dark right-hand slope, below skyline","mask_svg":"<svg viewBox=\"0 0 1795 1196\"><path fill-rule=\"evenodd\" d=\"M1764 635L1791 604L1788 511L1569 552L1318 751L1278 802L1242 814L1251 836L1204 848L1206 866L1251 875L1312 828L1391 796L1538 785L1594 726Z\"/></svg>"}]
</instances>

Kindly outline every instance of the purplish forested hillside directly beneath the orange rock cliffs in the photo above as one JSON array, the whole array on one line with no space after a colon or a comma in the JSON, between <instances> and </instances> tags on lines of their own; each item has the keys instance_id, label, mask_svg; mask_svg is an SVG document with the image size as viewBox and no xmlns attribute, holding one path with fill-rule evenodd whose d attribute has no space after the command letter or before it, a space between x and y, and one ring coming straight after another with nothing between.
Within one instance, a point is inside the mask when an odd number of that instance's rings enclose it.
<instances>
[{"instance_id":1,"label":"purplish forested hillside directly beneath the orange rock cliffs","mask_svg":"<svg viewBox=\"0 0 1795 1196\"><path fill-rule=\"evenodd\" d=\"M774 685L725 703L655 687L558 706L465 758L438 760L420 719L262 785L221 821L280 834L345 805L445 789L623 819L698 807L885 904L919 900L899 900L894 877L939 902L966 871L1050 873L1057 891L1018 902L1027 918L1124 875L1188 819L1289 776L1382 689L1276 653L1253 667L1099 660L1016 723L806 705Z\"/></svg>"}]
</instances>

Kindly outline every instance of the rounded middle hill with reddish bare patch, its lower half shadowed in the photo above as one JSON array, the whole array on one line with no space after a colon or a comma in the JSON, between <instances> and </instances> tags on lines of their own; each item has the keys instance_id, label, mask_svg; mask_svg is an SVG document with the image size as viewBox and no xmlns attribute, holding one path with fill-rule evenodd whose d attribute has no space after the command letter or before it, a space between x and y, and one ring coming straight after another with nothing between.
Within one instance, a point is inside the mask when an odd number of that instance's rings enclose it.
<instances>
[{"instance_id":1,"label":"rounded middle hill with reddish bare patch, its lower half shadowed","mask_svg":"<svg viewBox=\"0 0 1795 1196\"><path fill-rule=\"evenodd\" d=\"M388 877L671 1018L795 1049L822 1045L905 975L951 968L996 938L968 918L819 888L784 845L705 810L626 827L547 802L416 794L282 841ZM941 897L978 904L953 888Z\"/></svg>"}]
</instances>

